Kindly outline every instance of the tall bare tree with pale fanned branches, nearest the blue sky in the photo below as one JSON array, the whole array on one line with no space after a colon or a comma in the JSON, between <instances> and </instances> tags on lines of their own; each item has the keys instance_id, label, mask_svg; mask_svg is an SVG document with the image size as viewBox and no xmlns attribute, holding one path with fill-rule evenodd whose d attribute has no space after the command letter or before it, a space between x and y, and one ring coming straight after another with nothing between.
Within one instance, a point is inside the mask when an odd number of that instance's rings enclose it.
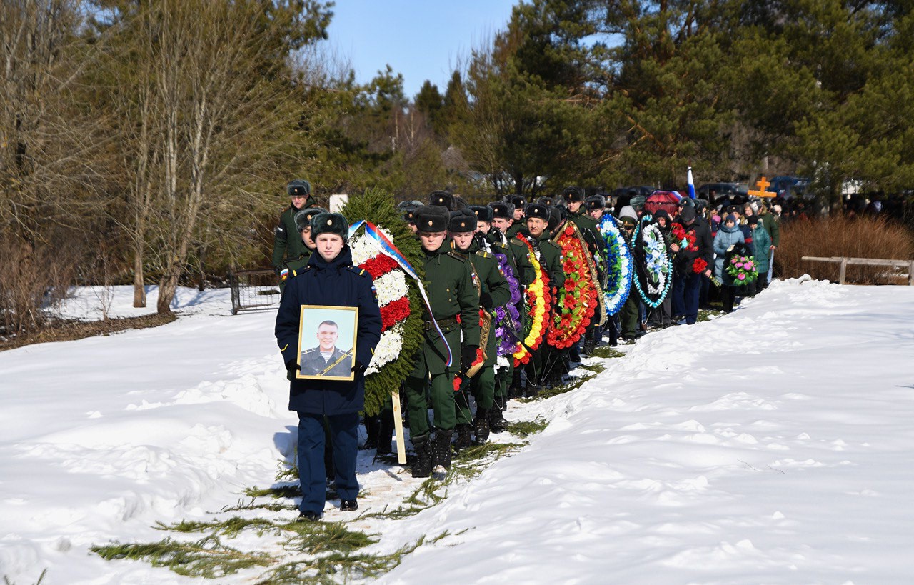
<instances>
[{"instance_id":1,"label":"tall bare tree with pale fanned branches, nearest the blue sky","mask_svg":"<svg viewBox=\"0 0 914 585\"><path fill-rule=\"evenodd\" d=\"M278 175L301 109L289 86L263 70L275 34L258 3L163 0L142 16L151 67L148 110L138 113L149 124L139 126L136 148L147 159L137 159L132 188L137 213L154 211L136 219L161 261L156 308L167 313L188 253L204 237L201 216L262 207L261 187ZM149 187L152 199L144 198Z\"/></svg>"}]
</instances>

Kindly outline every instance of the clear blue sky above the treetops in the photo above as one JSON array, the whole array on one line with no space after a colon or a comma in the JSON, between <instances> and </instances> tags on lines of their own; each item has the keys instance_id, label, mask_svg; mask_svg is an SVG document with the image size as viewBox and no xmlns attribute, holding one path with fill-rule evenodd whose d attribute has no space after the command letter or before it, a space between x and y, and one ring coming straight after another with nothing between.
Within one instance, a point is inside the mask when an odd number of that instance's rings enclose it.
<instances>
[{"instance_id":1,"label":"clear blue sky above the treetops","mask_svg":"<svg viewBox=\"0 0 914 585\"><path fill-rule=\"evenodd\" d=\"M518 0L336 0L329 44L366 82L387 64L412 98L424 80L444 91L460 58L504 28Z\"/></svg>"}]
</instances>

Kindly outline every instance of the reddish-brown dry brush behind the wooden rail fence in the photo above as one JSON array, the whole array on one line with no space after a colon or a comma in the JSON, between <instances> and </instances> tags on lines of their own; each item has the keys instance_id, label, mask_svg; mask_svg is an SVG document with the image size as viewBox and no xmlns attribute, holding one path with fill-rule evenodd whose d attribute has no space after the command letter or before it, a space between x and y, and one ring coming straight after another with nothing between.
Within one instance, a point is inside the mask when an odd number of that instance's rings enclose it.
<instances>
[{"instance_id":1,"label":"reddish-brown dry brush behind the wooden rail fence","mask_svg":"<svg viewBox=\"0 0 914 585\"><path fill-rule=\"evenodd\" d=\"M781 277L796 278L805 273L814 279L837 282L838 263L802 261L803 256L911 260L914 259L914 234L909 228L885 218L838 216L815 221L795 220L781 227L781 246L774 255ZM907 273L907 268L848 266L846 282L907 284Z\"/></svg>"}]
</instances>

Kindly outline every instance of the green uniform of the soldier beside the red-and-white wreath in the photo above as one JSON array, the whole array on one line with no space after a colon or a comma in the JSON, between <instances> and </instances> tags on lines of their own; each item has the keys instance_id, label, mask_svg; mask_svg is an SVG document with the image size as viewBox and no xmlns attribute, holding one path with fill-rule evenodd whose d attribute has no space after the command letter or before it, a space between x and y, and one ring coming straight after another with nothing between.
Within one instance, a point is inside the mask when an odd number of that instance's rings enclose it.
<instances>
[{"instance_id":1,"label":"green uniform of the soldier beside the red-and-white wreath","mask_svg":"<svg viewBox=\"0 0 914 585\"><path fill-rule=\"evenodd\" d=\"M441 341L430 315L423 314L425 341L416 356L416 365L404 382L408 401L409 435L415 443L430 433L426 387L430 381L434 427L448 433L457 422L453 397L453 378L460 367L461 333L464 346L479 346L479 293L473 287L471 264L452 253L451 240L441 248L424 251L425 286L434 318L451 347L452 365L446 366L447 348ZM457 317L460 316L460 323Z\"/></svg>"}]
</instances>

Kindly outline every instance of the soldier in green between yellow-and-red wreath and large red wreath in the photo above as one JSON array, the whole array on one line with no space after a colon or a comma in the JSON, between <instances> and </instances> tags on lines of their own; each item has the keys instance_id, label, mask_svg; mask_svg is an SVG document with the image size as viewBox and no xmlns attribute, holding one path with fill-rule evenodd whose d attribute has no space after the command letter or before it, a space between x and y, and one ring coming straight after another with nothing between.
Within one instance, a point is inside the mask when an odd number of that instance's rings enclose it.
<instances>
[{"instance_id":1,"label":"soldier in green between yellow-and-red wreath and large red wreath","mask_svg":"<svg viewBox=\"0 0 914 585\"><path fill-rule=\"evenodd\" d=\"M558 287L565 284L565 271L562 270L562 250L558 244L549 239L548 222L551 216L549 208L538 203L531 203L524 210L526 216L526 228L521 230L521 234L529 239L534 246L533 254L536 255L540 266L546 271L549 279L549 288L551 289L552 303L555 303L558 293ZM552 308L547 314L547 323L552 324ZM547 345L543 343L537 350L532 352L529 364L526 367L527 394L536 396L543 387L545 376L548 372L543 371L546 366Z\"/></svg>"}]
</instances>

